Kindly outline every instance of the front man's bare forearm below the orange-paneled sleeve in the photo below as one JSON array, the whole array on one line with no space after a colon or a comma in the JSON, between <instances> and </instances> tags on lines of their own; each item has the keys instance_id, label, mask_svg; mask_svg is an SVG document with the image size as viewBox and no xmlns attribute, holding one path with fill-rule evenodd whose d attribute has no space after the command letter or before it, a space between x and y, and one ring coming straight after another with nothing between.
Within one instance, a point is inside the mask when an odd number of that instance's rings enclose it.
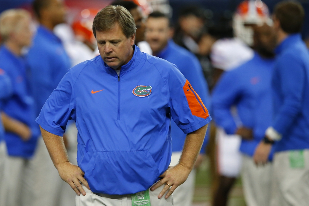
<instances>
[{"instance_id":1,"label":"front man's bare forearm below the orange-paneled sleeve","mask_svg":"<svg viewBox=\"0 0 309 206\"><path fill-rule=\"evenodd\" d=\"M190 170L193 169L205 138L207 126L208 124L187 135L179 161L180 165Z\"/></svg>"}]
</instances>

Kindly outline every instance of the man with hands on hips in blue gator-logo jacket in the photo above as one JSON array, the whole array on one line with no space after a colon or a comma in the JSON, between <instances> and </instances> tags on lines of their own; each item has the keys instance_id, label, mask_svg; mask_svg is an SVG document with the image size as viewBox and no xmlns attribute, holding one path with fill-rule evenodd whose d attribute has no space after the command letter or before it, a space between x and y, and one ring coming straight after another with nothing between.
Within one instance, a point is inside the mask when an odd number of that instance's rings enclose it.
<instances>
[{"instance_id":1,"label":"man with hands on hips in blue gator-logo jacket","mask_svg":"<svg viewBox=\"0 0 309 206\"><path fill-rule=\"evenodd\" d=\"M101 10L93 22L100 56L71 68L36 119L76 205L172 205L211 121L175 65L134 45L135 31L124 7ZM179 163L168 168L171 118L187 137ZM78 128L78 166L61 137L68 120Z\"/></svg>"}]
</instances>

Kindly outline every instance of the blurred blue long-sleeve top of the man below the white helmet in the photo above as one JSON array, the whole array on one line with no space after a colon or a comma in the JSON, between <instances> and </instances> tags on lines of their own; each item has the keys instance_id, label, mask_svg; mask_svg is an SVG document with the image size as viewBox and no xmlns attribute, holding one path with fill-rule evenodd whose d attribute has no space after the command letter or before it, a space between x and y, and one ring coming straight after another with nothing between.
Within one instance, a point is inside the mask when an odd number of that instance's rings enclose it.
<instances>
[{"instance_id":1,"label":"blurred blue long-sleeve top of the man below the white helmet","mask_svg":"<svg viewBox=\"0 0 309 206\"><path fill-rule=\"evenodd\" d=\"M237 130L231 106L236 106L243 126L253 130L254 139L243 139L240 145L240 151L251 157L265 130L271 125L273 66L274 59L264 59L255 53L250 61L225 72L212 93L215 122L227 134L235 134Z\"/></svg>"}]
</instances>

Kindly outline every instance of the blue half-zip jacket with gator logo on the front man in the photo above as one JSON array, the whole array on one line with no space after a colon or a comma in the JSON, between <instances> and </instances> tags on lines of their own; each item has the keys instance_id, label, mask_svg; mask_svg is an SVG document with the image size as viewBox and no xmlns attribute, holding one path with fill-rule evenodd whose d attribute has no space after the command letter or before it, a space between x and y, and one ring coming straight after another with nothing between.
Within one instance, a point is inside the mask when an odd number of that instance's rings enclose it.
<instances>
[{"instance_id":1,"label":"blue half-zip jacket with gator logo on the front man","mask_svg":"<svg viewBox=\"0 0 309 206\"><path fill-rule=\"evenodd\" d=\"M36 122L61 136L75 120L78 166L91 191L123 195L147 190L167 170L171 118L184 133L211 120L175 65L135 46L119 76L100 56L71 68Z\"/></svg>"}]
</instances>

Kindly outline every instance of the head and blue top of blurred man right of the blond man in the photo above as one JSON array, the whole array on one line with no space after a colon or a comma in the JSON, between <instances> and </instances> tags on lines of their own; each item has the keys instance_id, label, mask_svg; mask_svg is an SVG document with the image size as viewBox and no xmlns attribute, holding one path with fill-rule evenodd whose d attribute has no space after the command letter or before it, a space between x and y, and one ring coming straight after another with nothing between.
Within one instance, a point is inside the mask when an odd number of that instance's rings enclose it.
<instances>
[{"instance_id":1,"label":"head and blue top of blurred man right of the blond man","mask_svg":"<svg viewBox=\"0 0 309 206\"><path fill-rule=\"evenodd\" d=\"M53 33L57 24L65 22L63 2L36 0L33 2L33 10L40 25L29 49L28 61L32 73L36 114L39 115L49 95L70 69L71 62L61 40Z\"/></svg>"}]
</instances>

